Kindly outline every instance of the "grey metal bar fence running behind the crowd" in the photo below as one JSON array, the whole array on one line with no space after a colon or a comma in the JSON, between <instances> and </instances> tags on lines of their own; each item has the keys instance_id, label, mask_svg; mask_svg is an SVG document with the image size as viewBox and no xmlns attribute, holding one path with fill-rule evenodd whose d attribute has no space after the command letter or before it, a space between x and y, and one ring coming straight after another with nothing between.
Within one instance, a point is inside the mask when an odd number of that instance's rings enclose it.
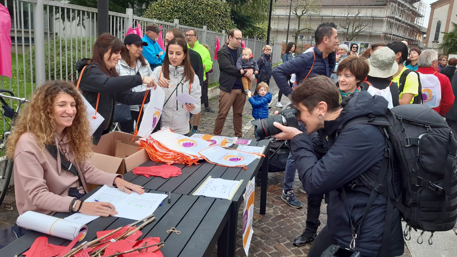
<instances>
[{"instance_id":1,"label":"grey metal bar fence running behind the crowd","mask_svg":"<svg viewBox=\"0 0 457 257\"><path fill-rule=\"evenodd\" d=\"M11 16L12 43L12 78L0 76L1 88L13 91L16 96L29 97L46 80L75 80L78 77L76 62L92 56L97 36L97 9L51 0L0 0L0 3L8 8ZM123 41L133 21L138 21L143 30L147 23L157 23L164 29L162 37L174 27L184 32L195 29L199 42L210 48L213 60L210 83L218 81L219 67L214 60L216 37L222 46L227 37L225 31L209 31L206 26L187 27L179 24L179 20L170 23L147 19L134 16L133 10L127 9L125 14L109 12L109 32ZM246 47L258 58L265 43L244 40Z\"/></svg>"}]
</instances>

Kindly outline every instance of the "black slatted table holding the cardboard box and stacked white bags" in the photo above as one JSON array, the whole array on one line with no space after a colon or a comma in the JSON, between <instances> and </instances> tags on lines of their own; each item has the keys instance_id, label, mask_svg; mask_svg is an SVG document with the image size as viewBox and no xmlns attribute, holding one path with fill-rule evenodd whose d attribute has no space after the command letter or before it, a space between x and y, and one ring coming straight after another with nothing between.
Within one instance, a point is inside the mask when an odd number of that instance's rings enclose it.
<instances>
[{"instance_id":1,"label":"black slatted table holding the cardboard box and stacked white bags","mask_svg":"<svg viewBox=\"0 0 457 257\"><path fill-rule=\"evenodd\" d=\"M221 252L218 246L219 256L235 256L236 250L236 230L238 225L238 210L243 203L243 194L247 183L250 179L255 177L257 173L261 172L261 187L260 191L260 214L265 214L266 211L266 188L268 179L268 154L270 152L270 141L252 140L250 146L265 146L264 154L266 157L255 159L247 167L247 170L241 167L225 167L211 164L207 161L201 161L199 165L185 166L174 165L180 167L182 175L178 177L162 178L162 177L144 177L143 175L134 175L128 172L124 175L124 179L132 183L143 186L145 189L179 193L183 195L191 195L198 187L207 179L208 176L213 178L223 178L228 180L241 180L243 183L240 185L238 191L232 198L232 206L230 209L229 224L228 224L228 252ZM236 149L238 145L232 146ZM162 165L154 161L146 161L141 166L154 166ZM202 197L203 198L203 197Z\"/></svg>"}]
</instances>

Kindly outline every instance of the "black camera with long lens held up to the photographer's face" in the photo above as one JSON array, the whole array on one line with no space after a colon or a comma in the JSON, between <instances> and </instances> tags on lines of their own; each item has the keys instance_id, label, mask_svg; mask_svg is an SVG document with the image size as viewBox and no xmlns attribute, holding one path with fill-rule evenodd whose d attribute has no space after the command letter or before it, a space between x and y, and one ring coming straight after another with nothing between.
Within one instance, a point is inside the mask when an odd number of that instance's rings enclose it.
<instances>
[{"instance_id":1,"label":"black camera with long lens held up to the photographer's face","mask_svg":"<svg viewBox=\"0 0 457 257\"><path fill-rule=\"evenodd\" d=\"M294 127L298 129L298 120L296 117L298 113L299 112L295 107L287 107L277 115L251 121L251 124L256 126L255 131L257 132L257 135L255 136L255 139L259 141L271 135L281 133L281 129L278 129L273 125L273 122L275 121L281 123L284 126Z\"/></svg>"}]
</instances>

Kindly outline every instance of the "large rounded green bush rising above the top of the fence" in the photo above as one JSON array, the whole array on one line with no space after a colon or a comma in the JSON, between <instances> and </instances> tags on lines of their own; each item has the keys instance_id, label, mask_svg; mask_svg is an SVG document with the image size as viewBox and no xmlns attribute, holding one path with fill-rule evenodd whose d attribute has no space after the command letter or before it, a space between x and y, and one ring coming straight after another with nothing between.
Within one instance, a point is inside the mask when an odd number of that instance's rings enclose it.
<instances>
[{"instance_id":1,"label":"large rounded green bush rising above the top of the fence","mask_svg":"<svg viewBox=\"0 0 457 257\"><path fill-rule=\"evenodd\" d=\"M230 7L220 0L163 0L157 1L143 13L143 17L173 22L179 19L184 26L228 32L235 27Z\"/></svg>"}]
</instances>

